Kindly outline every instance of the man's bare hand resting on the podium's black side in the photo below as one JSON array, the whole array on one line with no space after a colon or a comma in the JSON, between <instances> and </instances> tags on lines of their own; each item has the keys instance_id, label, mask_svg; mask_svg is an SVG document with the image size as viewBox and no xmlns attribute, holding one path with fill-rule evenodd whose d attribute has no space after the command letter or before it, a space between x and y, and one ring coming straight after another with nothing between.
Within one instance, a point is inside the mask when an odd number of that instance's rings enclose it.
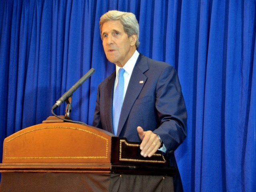
<instances>
[{"instance_id":1,"label":"man's bare hand resting on the podium's black side","mask_svg":"<svg viewBox=\"0 0 256 192\"><path fill-rule=\"evenodd\" d=\"M161 143L152 131L145 131L144 138L140 144L140 154L144 157L151 157L161 146Z\"/></svg>"}]
</instances>

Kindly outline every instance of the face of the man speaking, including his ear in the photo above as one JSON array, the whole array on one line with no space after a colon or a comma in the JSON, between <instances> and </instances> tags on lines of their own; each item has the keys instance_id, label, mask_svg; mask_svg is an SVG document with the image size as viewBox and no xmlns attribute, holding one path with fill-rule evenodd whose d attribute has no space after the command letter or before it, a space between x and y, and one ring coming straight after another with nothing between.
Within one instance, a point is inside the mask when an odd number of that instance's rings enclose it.
<instances>
[{"instance_id":1,"label":"face of the man speaking, including his ear","mask_svg":"<svg viewBox=\"0 0 256 192\"><path fill-rule=\"evenodd\" d=\"M128 37L119 20L107 21L102 25L102 44L106 57L119 67L123 67L134 54L136 39L135 34Z\"/></svg>"}]
</instances>

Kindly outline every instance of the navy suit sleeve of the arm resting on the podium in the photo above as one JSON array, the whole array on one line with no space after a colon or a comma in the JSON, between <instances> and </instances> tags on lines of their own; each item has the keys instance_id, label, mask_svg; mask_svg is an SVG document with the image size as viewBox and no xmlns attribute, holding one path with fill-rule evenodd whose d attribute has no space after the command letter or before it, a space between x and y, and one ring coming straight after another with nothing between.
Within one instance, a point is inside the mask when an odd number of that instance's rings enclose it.
<instances>
[{"instance_id":1,"label":"navy suit sleeve of the arm resting on the podium","mask_svg":"<svg viewBox=\"0 0 256 192\"><path fill-rule=\"evenodd\" d=\"M167 148L167 157L187 136L187 110L176 70L164 68L156 85L155 107L160 126L154 130Z\"/></svg>"}]
</instances>

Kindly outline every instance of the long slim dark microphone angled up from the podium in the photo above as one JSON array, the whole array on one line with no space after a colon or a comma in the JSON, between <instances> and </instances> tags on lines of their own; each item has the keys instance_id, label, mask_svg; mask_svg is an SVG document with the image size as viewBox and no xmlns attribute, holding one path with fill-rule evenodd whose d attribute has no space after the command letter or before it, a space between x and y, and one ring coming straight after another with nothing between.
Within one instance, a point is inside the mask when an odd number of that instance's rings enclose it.
<instances>
[{"instance_id":1,"label":"long slim dark microphone angled up from the podium","mask_svg":"<svg viewBox=\"0 0 256 192\"><path fill-rule=\"evenodd\" d=\"M53 105L51 109L55 110L70 96L72 96L73 92L75 92L75 90L77 90L94 72L95 72L95 69L91 68L84 76L82 76L81 79L79 79L79 81L77 81L67 92L65 92L61 96L61 98L59 98L59 100L56 101L56 103Z\"/></svg>"}]
</instances>

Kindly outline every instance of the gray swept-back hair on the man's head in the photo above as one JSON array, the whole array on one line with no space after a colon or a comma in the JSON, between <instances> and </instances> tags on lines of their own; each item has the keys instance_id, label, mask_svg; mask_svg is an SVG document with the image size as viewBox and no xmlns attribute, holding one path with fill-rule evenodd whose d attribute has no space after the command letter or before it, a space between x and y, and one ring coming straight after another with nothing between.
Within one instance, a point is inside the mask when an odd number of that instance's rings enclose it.
<instances>
[{"instance_id":1,"label":"gray swept-back hair on the man's head","mask_svg":"<svg viewBox=\"0 0 256 192\"><path fill-rule=\"evenodd\" d=\"M136 47L140 45L139 42L139 24L136 16L130 12L122 12L117 10L111 10L106 12L100 18L100 36L102 36L102 25L111 20L120 20L121 24L124 26L124 32L128 35L128 37L133 34L137 35Z\"/></svg>"}]
</instances>

